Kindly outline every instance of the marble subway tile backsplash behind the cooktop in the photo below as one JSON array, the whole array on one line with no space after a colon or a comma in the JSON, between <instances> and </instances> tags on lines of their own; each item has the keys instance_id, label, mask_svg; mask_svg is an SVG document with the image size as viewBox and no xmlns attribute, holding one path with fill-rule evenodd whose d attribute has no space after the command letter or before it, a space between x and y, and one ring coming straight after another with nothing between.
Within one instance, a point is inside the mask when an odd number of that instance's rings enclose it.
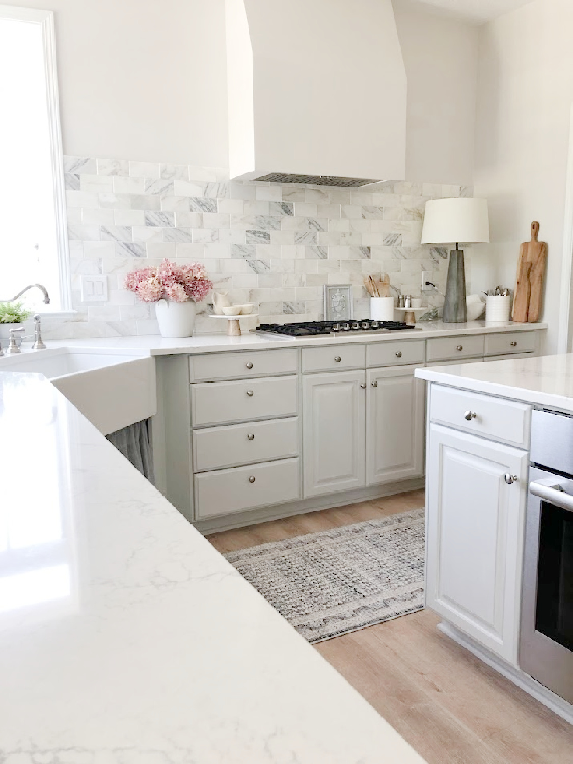
<instances>
[{"instance_id":1,"label":"marble subway tile backsplash behind the cooktop","mask_svg":"<svg viewBox=\"0 0 573 764\"><path fill-rule=\"evenodd\" d=\"M472 193L403 181L355 190L238 183L216 168L90 157L64 157L64 170L76 313L45 322L47 337L63 339L158 333L154 306L122 285L129 270L163 257L202 262L215 290L258 303L261 322L322 319L325 283L351 283L354 316L365 317L364 276L381 271L419 295L429 270L443 292L448 250L419 244L424 205ZM108 301L82 302L83 274L107 275ZM209 320L211 303L198 309L197 332L224 331Z\"/></svg>"}]
</instances>

